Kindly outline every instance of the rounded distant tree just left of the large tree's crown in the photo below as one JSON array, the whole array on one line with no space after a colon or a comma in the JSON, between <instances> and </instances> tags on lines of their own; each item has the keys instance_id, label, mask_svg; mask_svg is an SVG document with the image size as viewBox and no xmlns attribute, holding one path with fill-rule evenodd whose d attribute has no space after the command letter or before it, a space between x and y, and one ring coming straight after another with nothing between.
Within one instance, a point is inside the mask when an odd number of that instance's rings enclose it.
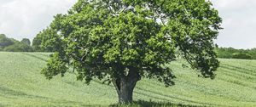
<instances>
[{"instance_id":1,"label":"rounded distant tree just left of the large tree's crown","mask_svg":"<svg viewBox=\"0 0 256 107\"><path fill-rule=\"evenodd\" d=\"M37 52L55 52L62 47L61 37L53 29L40 31L33 39L32 48Z\"/></svg>"}]
</instances>

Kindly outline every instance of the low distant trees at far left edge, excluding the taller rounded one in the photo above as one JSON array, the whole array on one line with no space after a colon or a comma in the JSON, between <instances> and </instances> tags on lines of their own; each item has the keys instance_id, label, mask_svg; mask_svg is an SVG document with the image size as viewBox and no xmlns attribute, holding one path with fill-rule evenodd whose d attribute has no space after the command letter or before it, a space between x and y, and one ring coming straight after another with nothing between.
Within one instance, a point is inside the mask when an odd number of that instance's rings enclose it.
<instances>
[{"instance_id":1,"label":"low distant trees at far left edge, excluding the taller rounded one","mask_svg":"<svg viewBox=\"0 0 256 107\"><path fill-rule=\"evenodd\" d=\"M0 35L0 51L7 52L32 52L31 42L27 38L23 38L20 42L6 37L4 34Z\"/></svg>"}]
</instances>

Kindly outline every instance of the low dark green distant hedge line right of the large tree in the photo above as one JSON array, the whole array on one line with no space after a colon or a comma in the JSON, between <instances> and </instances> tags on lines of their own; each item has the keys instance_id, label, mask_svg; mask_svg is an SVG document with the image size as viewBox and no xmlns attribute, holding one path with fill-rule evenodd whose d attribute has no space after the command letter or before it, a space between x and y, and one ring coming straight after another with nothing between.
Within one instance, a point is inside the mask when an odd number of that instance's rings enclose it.
<instances>
[{"instance_id":1,"label":"low dark green distant hedge line right of the large tree","mask_svg":"<svg viewBox=\"0 0 256 107\"><path fill-rule=\"evenodd\" d=\"M256 59L256 48L215 48L218 58L222 59Z\"/></svg>"}]
</instances>

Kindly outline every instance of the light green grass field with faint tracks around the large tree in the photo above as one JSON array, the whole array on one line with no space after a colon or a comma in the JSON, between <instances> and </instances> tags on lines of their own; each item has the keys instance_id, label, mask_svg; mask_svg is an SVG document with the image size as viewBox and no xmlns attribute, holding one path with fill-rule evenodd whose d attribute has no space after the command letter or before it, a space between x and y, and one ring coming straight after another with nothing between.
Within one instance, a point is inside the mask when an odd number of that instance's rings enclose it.
<instances>
[{"instance_id":1,"label":"light green grass field with faint tracks around the large tree","mask_svg":"<svg viewBox=\"0 0 256 107\"><path fill-rule=\"evenodd\" d=\"M117 103L113 86L77 82L73 74L51 81L40 74L49 53L0 53L0 106L108 106ZM219 59L215 80L203 79L182 62L170 66L176 85L143 79L136 106L256 106L256 60Z\"/></svg>"}]
</instances>

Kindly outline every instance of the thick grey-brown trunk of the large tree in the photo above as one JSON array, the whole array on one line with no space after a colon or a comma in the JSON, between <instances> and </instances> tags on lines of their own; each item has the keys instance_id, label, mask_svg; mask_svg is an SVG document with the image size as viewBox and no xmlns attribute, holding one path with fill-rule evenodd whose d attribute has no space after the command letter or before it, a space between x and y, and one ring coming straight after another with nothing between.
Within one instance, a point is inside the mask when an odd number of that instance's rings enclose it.
<instances>
[{"instance_id":1,"label":"thick grey-brown trunk of the large tree","mask_svg":"<svg viewBox=\"0 0 256 107\"><path fill-rule=\"evenodd\" d=\"M113 78L113 86L118 93L119 104L130 104L132 102L133 89L140 79L139 75L131 74L131 72L128 76Z\"/></svg>"}]
</instances>

